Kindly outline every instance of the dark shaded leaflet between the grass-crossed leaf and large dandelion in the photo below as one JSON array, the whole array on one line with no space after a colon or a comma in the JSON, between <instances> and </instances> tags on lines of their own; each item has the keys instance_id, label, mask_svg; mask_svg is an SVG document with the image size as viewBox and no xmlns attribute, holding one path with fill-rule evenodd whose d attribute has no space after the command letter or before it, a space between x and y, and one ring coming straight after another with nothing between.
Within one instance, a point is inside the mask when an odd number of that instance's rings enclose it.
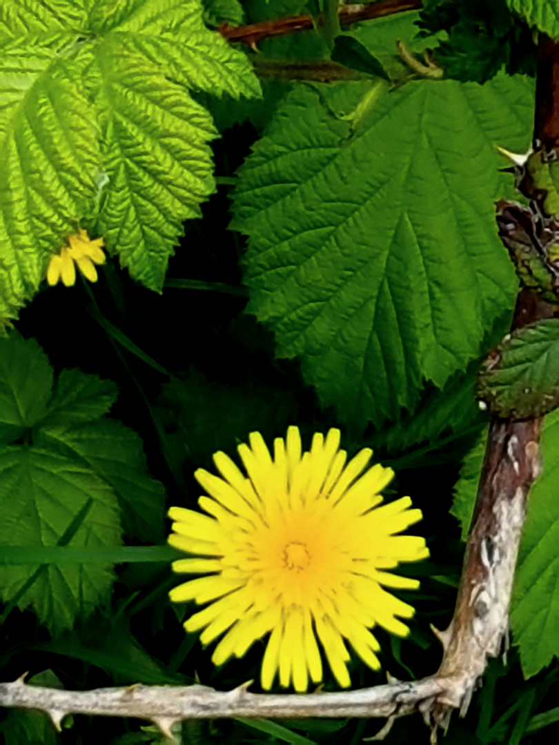
<instances>
[{"instance_id":1,"label":"dark shaded leaflet between the grass-crossed leaf and large dandelion","mask_svg":"<svg viewBox=\"0 0 559 745\"><path fill-rule=\"evenodd\" d=\"M113 488L127 536L159 542L164 532L165 489L148 475L142 440L114 419L93 423L50 425L34 434L40 447L50 447L89 466Z\"/></svg>"}]
</instances>

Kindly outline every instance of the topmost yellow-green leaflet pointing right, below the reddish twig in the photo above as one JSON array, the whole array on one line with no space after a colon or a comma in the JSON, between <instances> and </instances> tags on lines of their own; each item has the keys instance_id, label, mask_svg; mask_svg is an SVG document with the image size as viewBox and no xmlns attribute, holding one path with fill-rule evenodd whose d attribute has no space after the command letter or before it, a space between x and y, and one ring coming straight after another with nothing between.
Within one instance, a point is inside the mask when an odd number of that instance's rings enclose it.
<instances>
[{"instance_id":1,"label":"topmost yellow-green leaflet pointing right, below the reddish twig","mask_svg":"<svg viewBox=\"0 0 559 745\"><path fill-rule=\"evenodd\" d=\"M116 42L139 59L165 66L187 88L235 98L261 95L247 57L204 25L200 0L98 0L89 28L111 48Z\"/></svg>"}]
</instances>

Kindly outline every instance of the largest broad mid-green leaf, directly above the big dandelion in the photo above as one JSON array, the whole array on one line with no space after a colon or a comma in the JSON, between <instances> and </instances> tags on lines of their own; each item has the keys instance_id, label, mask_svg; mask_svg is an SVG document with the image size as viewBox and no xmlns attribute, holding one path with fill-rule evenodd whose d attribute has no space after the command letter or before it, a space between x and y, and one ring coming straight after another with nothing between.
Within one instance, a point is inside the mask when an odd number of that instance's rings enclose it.
<instances>
[{"instance_id":1,"label":"largest broad mid-green leaf, directly above the big dandelion","mask_svg":"<svg viewBox=\"0 0 559 745\"><path fill-rule=\"evenodd\" d=\"M496 232L497 142L528 142L531 83L294 90L239 174L247 310L344 419L394 419L481 353L517 282ZM394 122L398 126L394 126ZM352 128L353 127L353 128Z\"/></svg>"}]
</instances>

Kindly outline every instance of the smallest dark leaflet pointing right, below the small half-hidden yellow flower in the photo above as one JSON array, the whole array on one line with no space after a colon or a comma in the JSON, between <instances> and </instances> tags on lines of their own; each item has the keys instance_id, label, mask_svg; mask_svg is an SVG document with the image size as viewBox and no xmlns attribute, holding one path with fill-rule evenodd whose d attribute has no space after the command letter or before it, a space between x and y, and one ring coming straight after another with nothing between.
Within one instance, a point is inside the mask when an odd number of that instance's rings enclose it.
<instances>
[{"instance_id":1,"label":"smallest dark leaflet pointing right, below the small half-hidden yellow flower","mask_svg":"<svg viewBox=\"0 0 559 745\"><path fill-rule=\"evenodd\" d=\"M112 380L82 373L81 370L62 370L43 424L91 422L108 413L118 396L119 387Z\"/></svg>"}]
</instances>

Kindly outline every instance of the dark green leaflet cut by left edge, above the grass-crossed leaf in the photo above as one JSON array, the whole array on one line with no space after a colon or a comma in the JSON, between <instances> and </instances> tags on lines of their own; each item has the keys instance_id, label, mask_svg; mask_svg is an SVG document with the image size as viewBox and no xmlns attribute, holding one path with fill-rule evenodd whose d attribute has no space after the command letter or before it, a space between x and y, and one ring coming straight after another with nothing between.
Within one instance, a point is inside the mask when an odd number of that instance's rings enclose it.
<instances>
[{"instance_id":1,"label":"dark green leaflet cut by left edge, above the grass-crossed leaf","mask_svg":"<svg viewBox=\"0 0 559 745\"><path fill-rule=\"evenodd\" d=\"M9 444L45 416L52 370L36 340L0 339L0 442Z\"/></svg>"}]
</instances>

